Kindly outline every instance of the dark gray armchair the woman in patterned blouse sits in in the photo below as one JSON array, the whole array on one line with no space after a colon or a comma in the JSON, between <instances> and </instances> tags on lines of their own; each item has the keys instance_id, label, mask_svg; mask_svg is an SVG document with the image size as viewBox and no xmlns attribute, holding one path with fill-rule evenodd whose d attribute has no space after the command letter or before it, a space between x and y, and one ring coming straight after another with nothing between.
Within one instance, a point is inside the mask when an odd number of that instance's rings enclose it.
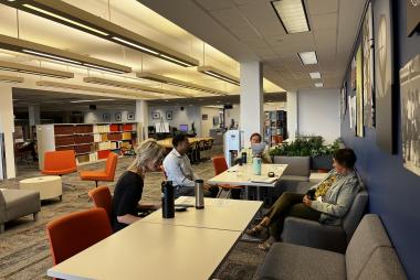
<instances>
[{"instance_id":1,"label":"dark gray armchair the woman in patterned blouse sits in","mask_svg":"<svg viewBox=\"0 0 420 280\"><path fill-rule=\"evenodd\" d=\"M282 234L283 243L344 252L358 226L368 201L368 192L361 190L343 218L342 226L323 225L318 222L287 217Z\"/></svg>"}]
</instances>

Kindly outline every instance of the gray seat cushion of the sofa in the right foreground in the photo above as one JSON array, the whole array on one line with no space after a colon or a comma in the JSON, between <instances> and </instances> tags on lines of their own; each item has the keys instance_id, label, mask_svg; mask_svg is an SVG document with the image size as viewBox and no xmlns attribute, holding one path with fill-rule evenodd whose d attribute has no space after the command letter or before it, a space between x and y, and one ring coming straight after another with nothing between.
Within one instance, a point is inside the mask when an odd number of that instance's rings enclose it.
<instances>
[{"instance_id":1,"label":"gray seat cushion of the sofa in the right foreground","mask_svg":"<svg viewBox=\"0 0 420 280\"><path fill-rule=\"evenodd\" d=\"M344 255L293 244L274 244L256 279L345 279Z\"/></svg>"}]
</instances>

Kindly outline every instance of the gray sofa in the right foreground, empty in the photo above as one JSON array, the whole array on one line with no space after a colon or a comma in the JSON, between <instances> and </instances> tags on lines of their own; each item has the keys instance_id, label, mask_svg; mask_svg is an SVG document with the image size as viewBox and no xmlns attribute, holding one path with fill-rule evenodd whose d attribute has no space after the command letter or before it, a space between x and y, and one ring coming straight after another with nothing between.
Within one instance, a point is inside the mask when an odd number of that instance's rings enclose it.
<instances>
[{"instance_id":1,"label":"gray sofa in the right foreground, empty","mask_svg":"<svg viewBox=\"0 0 420 280\"><path fill-rule=\"evenodd\" d=\"M375 214L357 227L346 254L294 244L273 245L256 273L259 280L274 279L407 279L387 233Z\"/></svg>"}]
</instances>

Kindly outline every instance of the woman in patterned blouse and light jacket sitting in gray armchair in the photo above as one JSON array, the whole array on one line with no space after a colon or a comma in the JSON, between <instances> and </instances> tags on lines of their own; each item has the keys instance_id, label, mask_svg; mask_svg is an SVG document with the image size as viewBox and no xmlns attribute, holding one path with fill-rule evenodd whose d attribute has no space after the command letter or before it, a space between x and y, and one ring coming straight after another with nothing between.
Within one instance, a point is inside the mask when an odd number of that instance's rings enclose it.
<instances>
[{"instance_id":1,"label":"woman in patterned blouse and light jacket sitting in gray armchair","mask_svg":"<svg viewBox=\"0 0 420 280\"><path fill-rule=\"evenodd\" d=\"M280 239L287 216L339 225L360 189L355 163L356 154L351 149L339 149L334 154L334 169L324 181L311 187L306 194L283 193L261 223L248 229L246 234L258 236L269 227L269 239L259 246L267 250Z\"/></svg>"}]
</instances>

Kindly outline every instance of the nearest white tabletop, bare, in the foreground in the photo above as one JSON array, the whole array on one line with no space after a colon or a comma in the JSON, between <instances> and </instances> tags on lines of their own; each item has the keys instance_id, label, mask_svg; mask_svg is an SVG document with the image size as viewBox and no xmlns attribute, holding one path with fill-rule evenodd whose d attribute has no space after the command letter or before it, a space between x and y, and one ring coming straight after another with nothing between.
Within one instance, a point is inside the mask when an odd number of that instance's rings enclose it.
<instances>
[{"instance_id":1,"label":"nearest white tabletop, bare, in the foreground","mask_svg":"<svg viewBox=\"0 0 420 280\"><path fill-rule=\"evenodd\" d=\"M137 222L46 274L74 280L209 279L240 236L241 231Z\"/></svg>"}]
</instances>

